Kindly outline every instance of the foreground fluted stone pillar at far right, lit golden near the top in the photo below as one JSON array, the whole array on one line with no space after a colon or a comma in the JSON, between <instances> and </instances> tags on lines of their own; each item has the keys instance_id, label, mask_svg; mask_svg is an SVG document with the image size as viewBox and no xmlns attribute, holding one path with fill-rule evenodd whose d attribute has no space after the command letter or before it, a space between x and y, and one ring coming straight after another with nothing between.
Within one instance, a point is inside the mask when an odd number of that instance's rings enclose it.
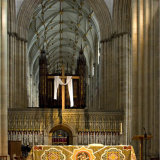
<instances>
[{"instance_id":1,"label":"foreground fluted stone pillar at far right, lit golden near the top","mask_svg":"<svg viewBox=\"0 0 160 160\"><path fill-rule=\"evenodd\" d=\"M144 134L145 128L153 136L147 145L150 158L159 153L159 28L160 1L132 1L132 134Z\"/></svg>"}]
</instances>

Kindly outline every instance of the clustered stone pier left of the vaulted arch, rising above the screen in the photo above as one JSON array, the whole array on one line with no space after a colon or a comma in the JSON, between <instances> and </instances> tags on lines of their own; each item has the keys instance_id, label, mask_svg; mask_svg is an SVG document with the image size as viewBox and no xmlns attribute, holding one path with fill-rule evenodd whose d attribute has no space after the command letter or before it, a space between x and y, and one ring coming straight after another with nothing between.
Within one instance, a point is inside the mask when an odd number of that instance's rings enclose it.
<instances>
[{"instance_id":1,"label":"clustered stone pier left of the vaulted arch, rising above the screen","mask_svg":"<svg viewBox=\"0 0 160 160\"><path fill-rule=\"evenodd\" d=\"M9 108L28 106L27 98L27 40L17 33L15 1L8 3L8 76Z\"/></svg>"}]
</instances>

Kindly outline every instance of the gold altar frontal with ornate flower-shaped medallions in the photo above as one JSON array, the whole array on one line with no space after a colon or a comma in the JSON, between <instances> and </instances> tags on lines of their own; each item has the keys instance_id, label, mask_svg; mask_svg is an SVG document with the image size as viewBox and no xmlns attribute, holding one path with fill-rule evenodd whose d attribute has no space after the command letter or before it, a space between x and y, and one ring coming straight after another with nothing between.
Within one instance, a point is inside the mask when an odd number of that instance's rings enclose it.
<instances>
[{"instance_id":1,"label":"gold altar frontal with ornate flower-shaped medallions","mask_svg":"<svg viewBox=\"0 0 160 160\"><path fill-rule=\"evenodd\" d=\"M27 160L136 160L132 146L33 146Z\"/></svg>"}]
</instances>

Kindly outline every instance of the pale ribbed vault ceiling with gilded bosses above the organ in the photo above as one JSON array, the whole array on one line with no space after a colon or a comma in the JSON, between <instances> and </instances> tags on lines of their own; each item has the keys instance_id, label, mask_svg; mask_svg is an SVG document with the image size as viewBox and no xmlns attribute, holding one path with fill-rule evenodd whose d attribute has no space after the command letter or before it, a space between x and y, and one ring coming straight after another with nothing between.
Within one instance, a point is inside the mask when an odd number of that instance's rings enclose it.
<instances>
[{"instance_id":1,"label":"pale ribbed vault ceiling with gilded bosses above the organ","mask_svg":"<svg viewBox=\"0 0 160 160\"><path fill-rule=\"evenodd\" d=\"M60 63L75 69L81 46L90 66L98 39L98 24L85 0L43 0L30 22L30 70L38 73L42 48L46 50L49 73L54 73Z\"/></svg>"}]
</instances>

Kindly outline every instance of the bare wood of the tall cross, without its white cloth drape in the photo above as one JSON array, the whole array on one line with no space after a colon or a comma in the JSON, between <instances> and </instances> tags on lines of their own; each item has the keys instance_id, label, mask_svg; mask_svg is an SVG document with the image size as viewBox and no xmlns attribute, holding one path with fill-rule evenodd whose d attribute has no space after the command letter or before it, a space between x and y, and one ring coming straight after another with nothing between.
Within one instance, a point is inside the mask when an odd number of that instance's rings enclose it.
<instances>
[{"instance_id":1,"label":"bare wood of the tall cross, without its white cloth drape","mask_svg":"<svg viewBox=\"0 0 160 160\"><path fill-rule=\"evenodd\" d=\"M62 65L62 75L59 76L59 78L62 79L62 82L65 83L65 79L67 79L67 76L65 76L65 69L64 65ZM48 76L48 79L54 79L54 76ZM79 76L72 76L72 79L80 79ZM62 110L65 109L65 86L62 85Z\"/></svg>"}]
</instances>

